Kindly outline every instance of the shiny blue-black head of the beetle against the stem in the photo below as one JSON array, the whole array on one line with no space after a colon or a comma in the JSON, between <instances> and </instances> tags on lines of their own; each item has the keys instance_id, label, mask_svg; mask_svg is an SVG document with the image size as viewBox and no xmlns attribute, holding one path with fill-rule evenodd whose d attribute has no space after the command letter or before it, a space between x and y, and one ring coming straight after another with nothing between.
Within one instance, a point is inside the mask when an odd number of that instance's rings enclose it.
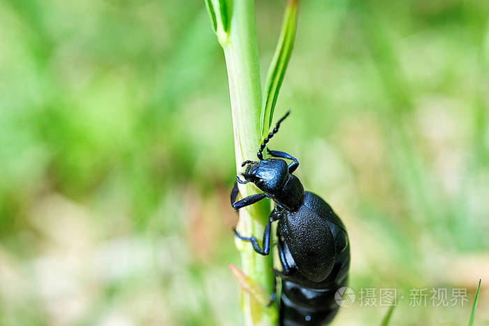
<instances>
[{"instance_id":1,"label":"shiny blue-black head of the beetle against the stem","mask_svg":"<svg viewBox=\"0 0 489 326\"><path fill-rule=\"evenodd\" d=\"M254 183L263 192L275 194L284 186L289 176L289 166L281 159L249 162L243 176L246 181Z\"/></svg>"}]
</instances>

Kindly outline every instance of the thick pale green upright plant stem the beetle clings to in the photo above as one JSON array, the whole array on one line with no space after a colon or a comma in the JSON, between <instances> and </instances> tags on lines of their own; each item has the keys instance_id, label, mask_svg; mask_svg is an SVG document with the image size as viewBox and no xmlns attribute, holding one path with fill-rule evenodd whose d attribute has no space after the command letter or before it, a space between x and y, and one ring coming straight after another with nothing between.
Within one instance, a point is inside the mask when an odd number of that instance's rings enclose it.
<instances>
[{"instance_id":1,"label":"thick pale green upright plant stem the beetle clings to","mask_svg":"<svg viewBox=\"0 0 489 326\"><path fill-rule=\"evenodd\" d=\"M242 173L241 163L256 160L256 152L261 141L261 80L258 66L258 44L256 41L254 2L235 0L231 9L231 27L227 37L219 37L226 57L229 94L233 115L236 171ZM239 185L241 197L257 193L251 183ZM238 232L261 237L268 222L270 202L242 208L238 221ZM236 239L240 250L242 271L251 280L261 285L270 295L275 278L272 255L257 255L250 243ZM246 325L277 325L277 307L259 304L248 293L242 292L242 309Z\"/></svg>"}]
</instances>

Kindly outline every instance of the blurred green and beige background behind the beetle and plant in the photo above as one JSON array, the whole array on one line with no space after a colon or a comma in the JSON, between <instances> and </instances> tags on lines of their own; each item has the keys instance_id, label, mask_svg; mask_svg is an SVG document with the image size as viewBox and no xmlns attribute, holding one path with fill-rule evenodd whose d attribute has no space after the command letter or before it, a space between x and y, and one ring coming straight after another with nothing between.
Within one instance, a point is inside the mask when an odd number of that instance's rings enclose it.
<instances>
[{"instance_id":1,"label":"blurred green and beige background behind the beetle and plant","mask_svg":"<svg viewBox=\"0 0 489 326\"><path fill-rule=\"evenodd\" d=\"M256 1L262 78L284 1ZM392 325L489 325L489 3L301 1L272 148ZM203 1L0 1L0 325L240 325L224 56ZM411 288L467 288L410 307ZM429 299L429 298L428 298ZM386 307L334 325L379 325Z\"/></svg>"}]
</instances>

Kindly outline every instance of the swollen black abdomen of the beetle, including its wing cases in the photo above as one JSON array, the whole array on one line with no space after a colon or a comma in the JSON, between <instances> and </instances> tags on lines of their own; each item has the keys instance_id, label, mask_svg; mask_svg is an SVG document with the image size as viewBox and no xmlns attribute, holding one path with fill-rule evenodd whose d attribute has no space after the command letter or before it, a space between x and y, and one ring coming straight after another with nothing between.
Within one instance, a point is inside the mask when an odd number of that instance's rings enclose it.
<instances>
[{"instance_id":1,"label":"swollen black abdomen of the beetle, including its wing cases","mask_svg":"<svg viewBox=\"0 0 489 326\"><path fill-rule=\"evenodd\" d=\"M326 201L306 192L304 205L280 220L277 233L288 271L282 275L280 324L330 323L340 308L335 293L348 282L350 248L343 223ZM318 244L319 255L311 254ZM321 277L314 279L311 274Z\"/></svg>"}]
</instances>

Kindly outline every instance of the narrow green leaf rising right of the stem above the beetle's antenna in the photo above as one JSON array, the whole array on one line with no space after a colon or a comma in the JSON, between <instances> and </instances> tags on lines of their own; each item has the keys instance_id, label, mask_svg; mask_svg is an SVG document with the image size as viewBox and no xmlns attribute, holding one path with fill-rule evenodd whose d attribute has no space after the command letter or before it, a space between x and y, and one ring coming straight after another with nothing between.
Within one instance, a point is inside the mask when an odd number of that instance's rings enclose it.
<instances>
[{"instance_id":1,"label":"narrow green leaf rising right of the stem above the beetle's antenna","mask_svg":"<svg viewBox=\"0 0 489 326\"><path fill-rule=\"evenodd\" d=\"M265 82L265 96L261 107L261 134L263 137L268 134L268 129L272 125L273 111L279 96L280 86L284 80L285 71L291 58L293 43L295 40L295 27L297 26L298 0L289 0L285 8L282 30L280 31L279 42L275 49L270 67L268 68L267 79Z\"/></svg>"}]
</instances>

